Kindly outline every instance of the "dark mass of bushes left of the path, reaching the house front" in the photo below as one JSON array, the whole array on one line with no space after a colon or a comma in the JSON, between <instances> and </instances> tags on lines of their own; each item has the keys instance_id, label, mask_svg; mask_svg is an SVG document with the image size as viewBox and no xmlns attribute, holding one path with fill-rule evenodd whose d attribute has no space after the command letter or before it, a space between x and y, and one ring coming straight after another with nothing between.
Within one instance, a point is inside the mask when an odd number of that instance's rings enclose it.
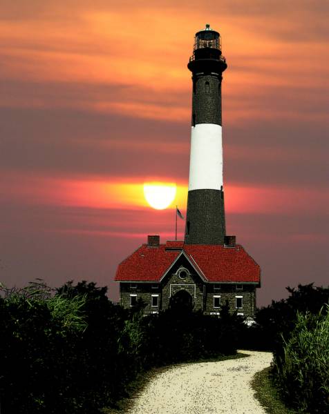
<instances>
[{"instance_id":1,"label":"dark mass of bushes left of the path, reaching the house front","mask_svg":"<svg viewBox=\"0 0 329 414\"><path fill-rule=\"evenodd\" d=\"M143 317L87 282L1 290L1 414L100 413L151 367L236 353L243 324L227 306L220 319L179 303Z\"/></svg>"}]
</instances>

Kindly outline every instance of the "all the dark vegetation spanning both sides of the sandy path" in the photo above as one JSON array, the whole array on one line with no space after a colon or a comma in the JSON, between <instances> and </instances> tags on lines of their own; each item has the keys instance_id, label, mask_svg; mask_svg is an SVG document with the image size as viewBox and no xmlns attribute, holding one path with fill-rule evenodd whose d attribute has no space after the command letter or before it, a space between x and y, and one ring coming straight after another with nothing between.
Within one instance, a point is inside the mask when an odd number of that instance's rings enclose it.
<instances>
[{"instance_id":1,"label":"all the dark vegetation spanning both sides of the sandy path","mask_svg":"<svg viewBox=\"0 0 329 414\"><path fill-rule=\"evenodd\" d=\"M142 302L126 310L95 283L0 290L1 414L100 413L151 368L237 347L273 351L267 376L297 412L329 411L328 288L288 288L288 299L259 309L251 327L228 306L218 318L173 302L143 317Z\"/></svg>"}]
</instances>

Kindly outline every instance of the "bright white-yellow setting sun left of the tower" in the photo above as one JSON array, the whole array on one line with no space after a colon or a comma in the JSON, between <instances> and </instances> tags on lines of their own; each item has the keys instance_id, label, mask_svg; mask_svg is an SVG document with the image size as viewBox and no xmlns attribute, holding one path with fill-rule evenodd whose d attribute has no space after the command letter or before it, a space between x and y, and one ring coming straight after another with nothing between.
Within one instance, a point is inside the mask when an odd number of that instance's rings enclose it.
<instances>
[{"instance_id":1,"label":"bright white-yellow setting sun left of the tower","mask_svg":"<svg viewBox=\"0 0 329 414\"><path fill-rule=\"evenodd\" d=\"M144 197L156 210L164 210L176 197L176 184L151 182L144 183Z\"/></svg>"}]
</instances>

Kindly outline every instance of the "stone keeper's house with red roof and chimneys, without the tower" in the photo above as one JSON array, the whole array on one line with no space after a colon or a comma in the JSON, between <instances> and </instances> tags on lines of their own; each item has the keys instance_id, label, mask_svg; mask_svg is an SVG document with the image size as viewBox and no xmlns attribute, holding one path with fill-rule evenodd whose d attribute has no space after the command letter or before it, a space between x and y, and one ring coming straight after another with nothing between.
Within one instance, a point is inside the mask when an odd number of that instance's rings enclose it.
<instances>
[{"instance_id":1,"label":"stone keeper's house with red roof and chimneys, without the tower","mask_svg":"<svg viewBox=\"0 0 329 414\"><path fill-rule=\"evenodd\" d=\"M259 265L232 236L223 245L160 244L158 235L149 236L147 244L120 263L115 275L125 308L142 299L145 313L158 313L171 300L179 300L194 310L219 315L220 305L227 301L231 312L245 317L254 316L260 278Z\"/></svg>"}]
</instances>

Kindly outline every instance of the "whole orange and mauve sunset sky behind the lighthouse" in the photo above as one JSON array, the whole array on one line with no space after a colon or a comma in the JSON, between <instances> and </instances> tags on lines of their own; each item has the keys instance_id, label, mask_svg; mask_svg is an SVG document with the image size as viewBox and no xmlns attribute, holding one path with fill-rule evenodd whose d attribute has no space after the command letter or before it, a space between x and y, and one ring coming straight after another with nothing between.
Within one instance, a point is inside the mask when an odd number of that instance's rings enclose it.
<instances>
[{"instance_id":1,"label":"whole orange and mauve sunset sky behind the lighthouse","mask_svg":"<svg viewBox=\"0 0 329 414\"><path fill-rule=\"evenodd\" d=\"M93 279L115 297L118 262L148 233L172 237L187 197L187 61L209 22L228 63L228 232L263 269L261 304L325 283L328 12L324 0L1 1L0 279ZM153 178L178 184L171 209L144 201Z\"/></svg>"}]
</instances>

